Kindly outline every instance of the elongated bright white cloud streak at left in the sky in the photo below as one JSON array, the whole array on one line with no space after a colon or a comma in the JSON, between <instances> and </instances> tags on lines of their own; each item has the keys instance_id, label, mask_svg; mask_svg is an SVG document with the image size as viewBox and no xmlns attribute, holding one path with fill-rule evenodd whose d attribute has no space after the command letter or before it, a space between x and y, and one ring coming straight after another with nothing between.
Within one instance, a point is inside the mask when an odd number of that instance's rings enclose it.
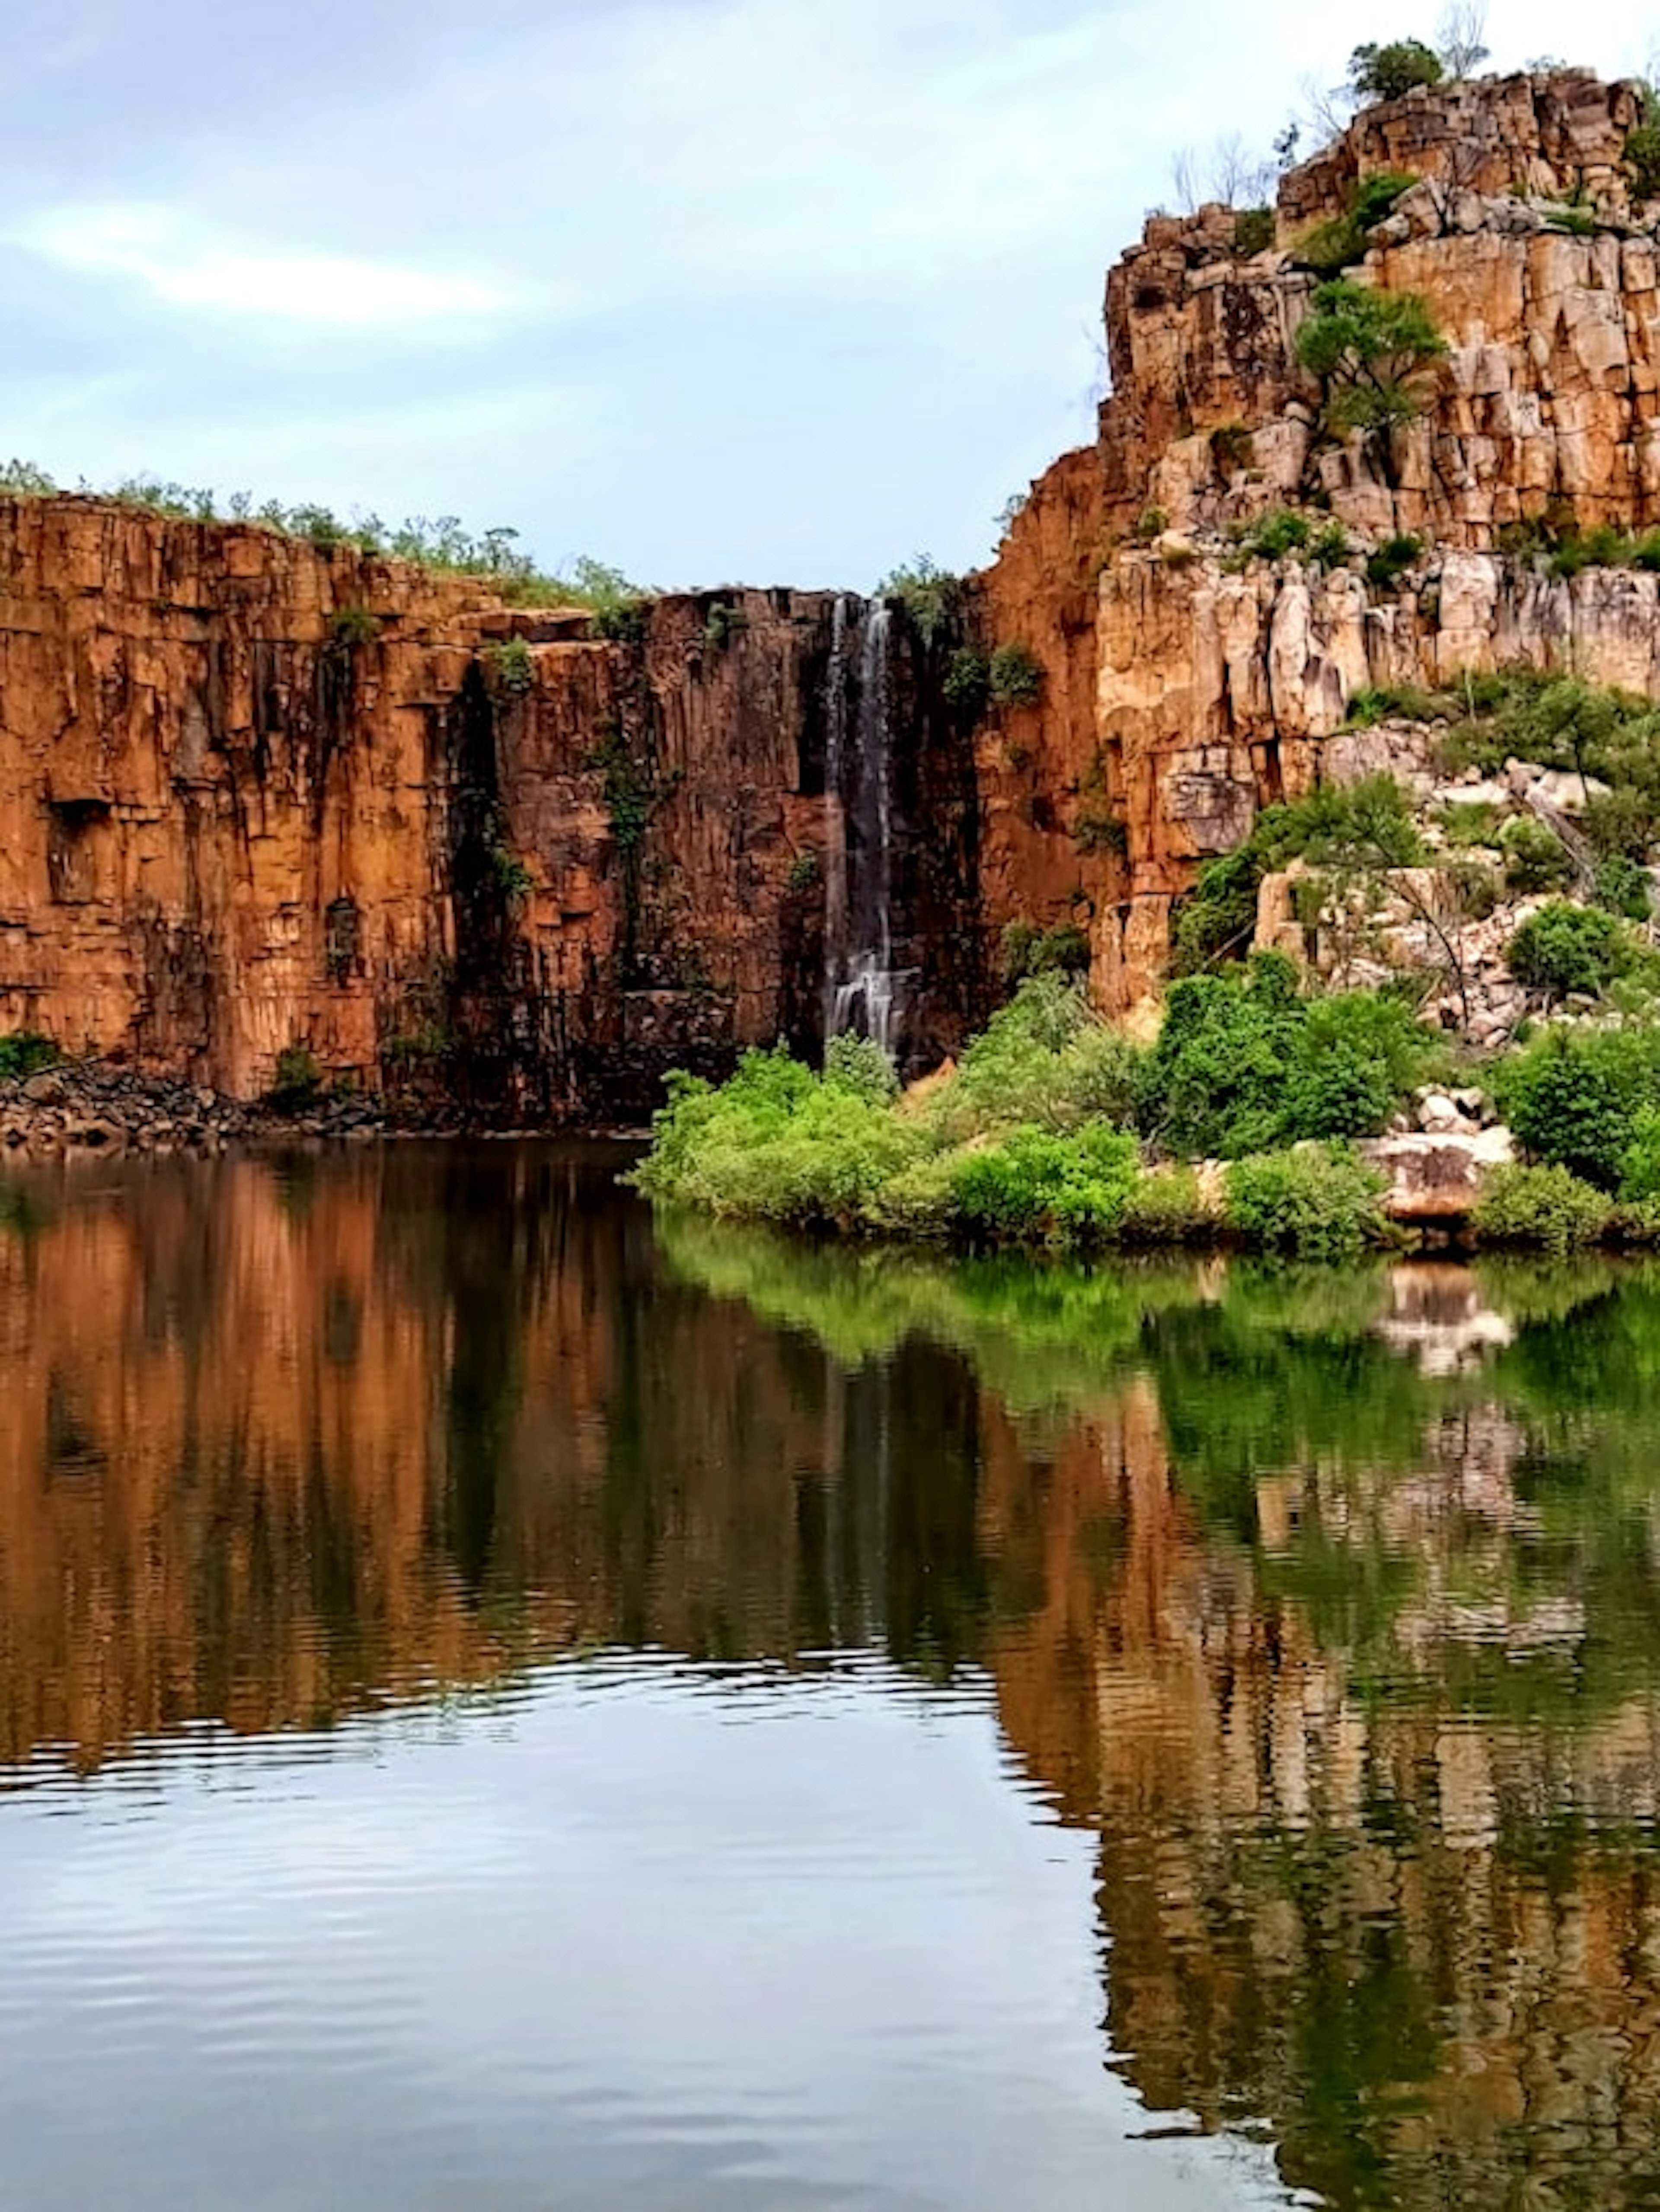
<instances>
[{"instance_id":1,"label":"elongated bright white cloud streak at left in the sky","mask_svg":"<svg viewBox=\"0 0 1660 2212\"><path fill-rule=\"evenodd\" d=\"M173 307L328 330L418 325L427 336L478 338L525 305L513 288L474 274L230 241L153 204L53 208L18 223L9 241L80 274L137 283Z\"/></svg>"}]
</instances>

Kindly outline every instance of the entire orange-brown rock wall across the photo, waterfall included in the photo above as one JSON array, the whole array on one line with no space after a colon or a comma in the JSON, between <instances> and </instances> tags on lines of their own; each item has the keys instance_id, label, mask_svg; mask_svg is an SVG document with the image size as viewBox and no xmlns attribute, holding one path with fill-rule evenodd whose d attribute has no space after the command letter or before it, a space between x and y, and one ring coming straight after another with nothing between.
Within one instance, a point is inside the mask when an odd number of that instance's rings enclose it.
<instances>
[{"instance_id":1,"label":"entire orange-brown rock wall across the photo, waterfall included","mask_svg":"<svg viewBox=\"0 0 1660 2212\"><path fill-rule=\"evenodd\" d=\"M837 1022L923 1068L1011 922L1087 933L1100 1004L1135 1004L1195 867L1341 770L1357 688L1660 695L1656 577L1554 577L1516 535L1660 522L1642 113L1578 71L1436 86L1273 210L1153 217L1107 285L1098 442L938 619L722 591L595 624L250 524L0 502L0 1026L241 1095L303 1051L602 1121ZM1386 438L1335 434L1297 363L1310 230L1379 175L1348 276L1445 338ZM1282 509L1341 549L1253 553ZM996 646L1036 697L952 681Z\"/></svg>"}]
</instances>

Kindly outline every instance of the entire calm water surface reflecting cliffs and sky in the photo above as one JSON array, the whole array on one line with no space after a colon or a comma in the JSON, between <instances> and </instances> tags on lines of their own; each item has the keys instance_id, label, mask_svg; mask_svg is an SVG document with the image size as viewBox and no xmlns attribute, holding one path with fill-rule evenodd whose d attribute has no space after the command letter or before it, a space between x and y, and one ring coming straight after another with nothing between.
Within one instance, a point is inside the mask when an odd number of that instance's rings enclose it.
<instances>
[{"instance_id":1,"label":"entire calm water surface reflecting cliffs and sky","mask_svg":"<svg viewBox=\"0 0 1660 2212\"><path fill-rule=\"evenodd\" d=\"M0 1190L0 2201L1660 2203L1660 1272Z\"/></svg>"}]
</instances>

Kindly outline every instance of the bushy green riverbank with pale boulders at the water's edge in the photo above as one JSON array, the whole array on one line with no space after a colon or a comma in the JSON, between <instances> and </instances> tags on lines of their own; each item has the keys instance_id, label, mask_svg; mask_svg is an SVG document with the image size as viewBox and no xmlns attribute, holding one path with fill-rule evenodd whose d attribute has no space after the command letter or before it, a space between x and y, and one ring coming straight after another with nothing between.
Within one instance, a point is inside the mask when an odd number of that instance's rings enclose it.
<instances>
[{"instance_id":1,"label":"bushy green riverbank with pale boulders at the water's edge","mask_svg":"<svg viewBox=\"0 0 1660 2212\"><path fill-rule=\"evenodd\" d=\"M635 1183L724 1219L967 1250L1651 1245L1660 1026L1545 1026L1476 1068L1399 995L1306 995L1268 953L1173 984L1138 1044L1049 975L903 1093L859 1037L823 1075L779 1048L719 1088L679 1077Z\"/></svg>"}]
</instances>

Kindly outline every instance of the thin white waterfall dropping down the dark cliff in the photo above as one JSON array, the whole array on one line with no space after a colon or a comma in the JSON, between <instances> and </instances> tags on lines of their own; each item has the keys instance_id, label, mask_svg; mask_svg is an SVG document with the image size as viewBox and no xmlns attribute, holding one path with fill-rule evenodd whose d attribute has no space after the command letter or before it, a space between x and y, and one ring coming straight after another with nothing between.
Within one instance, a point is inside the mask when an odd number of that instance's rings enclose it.
<instances>
[{"instance_id":1,"label":"thin white waterfall dropping down the dark cliff","mask_svg":"<svg viewBox=\"0 0 1660 2212\"><path fill-rule=\"evenodd\" d=\"M894 617L837 599L826 699L823 1035L854 1031L896 1053L903 973L892 938ZM850 630L859 619L859 650Z\"/></svg>"}]
</instances>

